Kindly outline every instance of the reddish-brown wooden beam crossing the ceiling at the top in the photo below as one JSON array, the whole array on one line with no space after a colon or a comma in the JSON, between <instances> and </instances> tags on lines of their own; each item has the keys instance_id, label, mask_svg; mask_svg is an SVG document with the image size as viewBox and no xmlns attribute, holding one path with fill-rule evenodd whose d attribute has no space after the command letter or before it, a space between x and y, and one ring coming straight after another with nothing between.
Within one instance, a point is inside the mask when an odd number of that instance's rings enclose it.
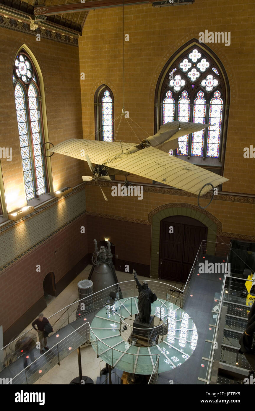
<instances>
[{"instance_id":1,"label":"reddish-brown wooden beam crossing the ceiling at the top","mask_svg":"<svg viewBox=\"0 0 255 411\"><path fill-rule=\"evenodd\" d=\"M123 3L125 6L128 5L138 5L138 4L148 4L153 3L155 0L92 0L85 1L84 3L71 3L62 4L56 6L46 7L35 6L34 15L35 16L51 16L52 14L62 14L62 13L75 13L75 12L87 12L88 10L95 9L106 9L110 7L122 7Z\"/></svg>"}]
</instances>

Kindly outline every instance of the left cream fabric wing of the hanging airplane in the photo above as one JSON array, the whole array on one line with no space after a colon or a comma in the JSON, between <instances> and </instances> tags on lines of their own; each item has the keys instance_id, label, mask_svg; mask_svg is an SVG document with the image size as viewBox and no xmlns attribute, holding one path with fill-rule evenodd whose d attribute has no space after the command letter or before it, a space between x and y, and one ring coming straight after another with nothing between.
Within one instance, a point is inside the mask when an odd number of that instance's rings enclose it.
<instances>
[{"instance_id":1,"label":"left cream fabric wing of the hanging airplane","mask_svg":"<svg viewBox=\"0 0 255 411\"><path fill-rule=\"evenodd\" d=\"M132 147L135 144L121 143L123 150ZM94 141L84 139L70 139L63 141L50 148L48 151L74 157L79 160L86 160L85 155L90 157L90 161L94 164L103 164L108 157L114 157L122 153L122 148L119 142L110 141Z\"/></svg>"}]
</instances>

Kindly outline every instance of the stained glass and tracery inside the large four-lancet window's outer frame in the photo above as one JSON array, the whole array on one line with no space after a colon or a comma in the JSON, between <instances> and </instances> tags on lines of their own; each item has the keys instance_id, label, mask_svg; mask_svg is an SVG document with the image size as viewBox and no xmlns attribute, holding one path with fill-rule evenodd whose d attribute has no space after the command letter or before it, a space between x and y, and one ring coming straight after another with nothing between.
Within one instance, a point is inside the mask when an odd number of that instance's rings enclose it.
<instances>
[{"instance_id":1,"label":"stained glass and tracery inside the large four-lancet window's outer frame","mask_svg":"<svg viewBox=\"0 0 255 411\"><path fill-rule=\"evenodd\" d=\"M199 48L190 48L170 67L161 92L161 124L187 121L210 127L179 137L169 155L218 158L222 140L225 86L216 62Z\"/></svg>"}]
</instances>

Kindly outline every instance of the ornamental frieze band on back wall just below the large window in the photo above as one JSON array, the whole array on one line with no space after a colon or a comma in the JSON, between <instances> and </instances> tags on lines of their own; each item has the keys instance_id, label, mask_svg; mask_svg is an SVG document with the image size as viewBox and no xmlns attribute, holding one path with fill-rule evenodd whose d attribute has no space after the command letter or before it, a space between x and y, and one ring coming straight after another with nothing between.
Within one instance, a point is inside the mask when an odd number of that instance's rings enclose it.
<instances>
[{"instance_id":1,"label":"ornamental frieze band on back wall just below the large window","mask_svg":"<svg viewBox=\"0 0 255 411\"><path fill-rule=\"evenodd\" d=\"M100 181L100 185L102 187L112 187L118 183L124 184L124 181ZM183 196L183 197L193 197L198 198L196 194L189 193L187 191L170 188L170 187L158 187L156 185L145 185L142 183L132 182L133 185L143 185L143 191L149 193L160 193L160 194L168 194L172 196ZM97 185L95 181L88 181L86 185ZM211 199L211 192L208 192L202 196L203 199ZM255 196L253 195L246 195L246 194L238 194L238 193L218 193L217 196L214 196L215 201L232 201L236 203L246 203L246 204L255 204Z\"/></svg>"}]
</instances>

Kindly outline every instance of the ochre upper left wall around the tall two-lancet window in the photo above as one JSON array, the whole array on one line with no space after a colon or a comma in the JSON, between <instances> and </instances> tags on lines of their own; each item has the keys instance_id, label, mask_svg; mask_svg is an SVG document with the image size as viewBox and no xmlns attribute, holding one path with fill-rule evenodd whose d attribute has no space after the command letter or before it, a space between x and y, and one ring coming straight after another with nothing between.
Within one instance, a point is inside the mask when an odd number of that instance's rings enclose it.
<instances>
[{"instance_id":1,"label":"ochre upper left wall around the tall two-lancet window","mask_svg":"<svg viewBox=\"0 0 255 411\"><path fill-rule=\"evenodd\" d=\"M78 47L0 28L0 146L12 147L12 161L1 159L8 211L26 204L19 146L12 67L16 52L25 43L41 68L46 94L49 141L54 145L71 138L83 138L80 111ZM63 155L51 157L53 185L74 187L82 182L83 163Z\"/></svg>"}]
</instances>

